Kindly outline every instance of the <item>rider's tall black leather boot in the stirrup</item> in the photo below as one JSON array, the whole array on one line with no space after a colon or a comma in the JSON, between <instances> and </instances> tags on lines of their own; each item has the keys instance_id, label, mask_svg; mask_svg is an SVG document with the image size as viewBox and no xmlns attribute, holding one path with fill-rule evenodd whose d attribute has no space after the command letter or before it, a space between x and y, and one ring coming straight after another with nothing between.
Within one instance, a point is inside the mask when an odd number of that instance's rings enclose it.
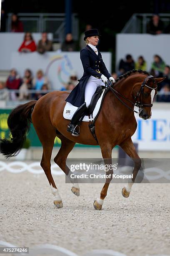
<instances>
[{"instance_id":1,"label":"rider's tall black leather boot in the stirrup","mask_svg":"<svg viewBox=\"0 0 170 256\"><path fill-rule=\"evenodd\" d=\"M84 102L79 108L77 108L69 125L67 126L67 131L70 132L73 136L79 136L80 128L79 128L79 131L76 131L77 123L86 110L87 110L87 107L86 107L86 103Z\"/></svg>"}]
</instances>

